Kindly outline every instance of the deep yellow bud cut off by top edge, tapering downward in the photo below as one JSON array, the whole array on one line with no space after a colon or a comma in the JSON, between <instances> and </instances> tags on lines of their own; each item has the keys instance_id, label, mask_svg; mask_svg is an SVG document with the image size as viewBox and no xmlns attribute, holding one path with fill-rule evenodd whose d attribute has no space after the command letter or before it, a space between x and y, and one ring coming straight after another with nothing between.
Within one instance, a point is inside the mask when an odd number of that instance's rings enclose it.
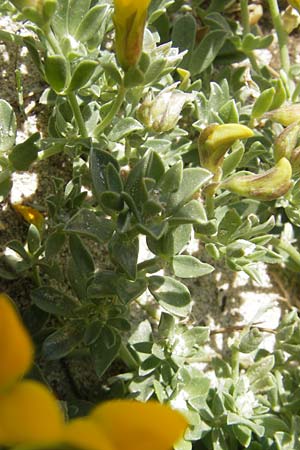
<instances>
[{"instance_id":1,"label":"deep yellow bud cut off by top edge, tapering downward","mask_svg":"<svg viewBox=\"0 0 300 450\"><path fill-rule=\"evenodd\" d=\"M124 70L140 59L149 3L150 0L114 0L116 54Z\"/></svg>"}]
</instances>

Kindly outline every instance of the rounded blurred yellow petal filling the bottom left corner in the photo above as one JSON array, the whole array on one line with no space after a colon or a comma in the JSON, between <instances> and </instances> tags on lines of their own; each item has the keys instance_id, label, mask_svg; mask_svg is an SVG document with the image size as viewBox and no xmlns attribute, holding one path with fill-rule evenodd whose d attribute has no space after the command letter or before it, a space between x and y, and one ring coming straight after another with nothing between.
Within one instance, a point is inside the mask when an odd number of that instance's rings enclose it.
<instances>
[{"instance_id":1,"label":"rounded blurred yellow petal filling the bottom left corner","mask_svg":"<svg viewBox=\"0 0 300 450\"><path fill-rule=\"evenodd\" d=\"M40 383L22 381L0 394L0 445L55 443L63 425L55 397Z\"/></svg>"}]
</instances>

